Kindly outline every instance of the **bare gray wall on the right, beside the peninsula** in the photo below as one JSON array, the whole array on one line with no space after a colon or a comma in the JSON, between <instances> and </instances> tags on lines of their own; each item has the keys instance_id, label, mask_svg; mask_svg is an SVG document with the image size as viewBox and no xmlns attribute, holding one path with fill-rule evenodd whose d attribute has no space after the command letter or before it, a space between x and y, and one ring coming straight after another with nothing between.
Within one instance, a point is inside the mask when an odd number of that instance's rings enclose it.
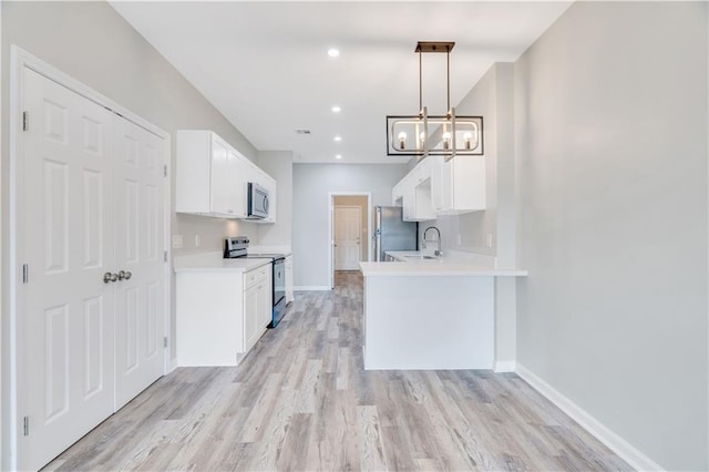
<instances>
[{"instance_id":1,"label":"bare gray wall on the right, beside the peninsula","mask_svg":"<svg viewBox=\"0 0 709 472\"><path fill-rule=\"evenodd\" d=\"M577 2L515 66L518 362L707 470L707 3Z\"/></svg>"}]
</instances>

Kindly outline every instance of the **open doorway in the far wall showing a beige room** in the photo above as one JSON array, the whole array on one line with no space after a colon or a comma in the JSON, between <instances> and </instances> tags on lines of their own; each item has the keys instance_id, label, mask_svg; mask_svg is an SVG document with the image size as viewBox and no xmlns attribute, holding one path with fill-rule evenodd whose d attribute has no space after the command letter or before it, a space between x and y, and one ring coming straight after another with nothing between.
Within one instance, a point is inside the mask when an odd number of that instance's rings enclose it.
<instances>
[{"instance_id":1,"label":"open doorway in the far wall showing a beige room","mask_svg":"<svg viewBox=\"0 0 709 472\"><path fill-rule=\"evenodd\" d=\"M329 194L329 274L335 288L335 273L359 270L359 263L370 260L370 192L332 192Z\"/></svg>"}]
</instances>

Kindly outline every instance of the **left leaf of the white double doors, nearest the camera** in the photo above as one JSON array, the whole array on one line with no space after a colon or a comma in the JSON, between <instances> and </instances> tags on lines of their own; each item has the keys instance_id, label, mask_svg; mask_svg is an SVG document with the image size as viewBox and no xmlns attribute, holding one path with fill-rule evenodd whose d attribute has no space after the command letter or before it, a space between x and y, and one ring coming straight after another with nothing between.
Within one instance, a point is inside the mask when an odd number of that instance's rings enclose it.
<instances>
[{"instance_id":1,"label":"left leaf of the white double doors, nearest the camera","mask_svg":"<svg viewBox=\"0 0 709 472\"><path fill-rule=\"evenodd\" d=\"M29 69L22 83L18 448L35 470L113 412L113 114Z\"/></svg>"}]
</instances>

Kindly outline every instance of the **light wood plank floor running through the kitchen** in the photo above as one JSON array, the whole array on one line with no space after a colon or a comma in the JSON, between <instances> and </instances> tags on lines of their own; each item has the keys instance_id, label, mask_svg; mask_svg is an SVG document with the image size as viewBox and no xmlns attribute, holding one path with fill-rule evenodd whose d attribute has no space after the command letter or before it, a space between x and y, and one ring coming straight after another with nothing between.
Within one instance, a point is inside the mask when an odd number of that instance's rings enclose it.
<instances>
[{"instance_id":1,"label":"light wood plank floor running through the kitchen","mask_svg":"<svg viewBox=\"0 0 709 472\"><path fill-rule=\"evenodd\" d=\"M297 294L242 366L177 369L47 469L630 470L515 374L364 371L361 275L336 286Z\"/></svg>"}]
</instances>

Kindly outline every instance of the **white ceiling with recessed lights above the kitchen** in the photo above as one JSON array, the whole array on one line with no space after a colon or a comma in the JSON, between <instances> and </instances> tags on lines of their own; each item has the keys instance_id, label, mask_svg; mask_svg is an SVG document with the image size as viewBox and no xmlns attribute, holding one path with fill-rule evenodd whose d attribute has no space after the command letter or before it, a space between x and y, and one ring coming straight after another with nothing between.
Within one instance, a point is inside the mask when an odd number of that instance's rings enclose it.
<instances>
[{"instance_id":1,"label":"white ceiling with recessed lights above the kitchen","mask_svg":"<svg viewBox=\"0 0 709 472\"><path fill-rule=\"evenodd\" d=\"M419 111L418 41L455 41L455 105L494 62L515 61L571 4L111 3L256 148L294 151L296 163L407 162L387 156L386 116ZM328 57L330 48L340 55ZM445 54L423 54L423 104L429 113L446 111Z\"/></svg>"}]
</instances>

